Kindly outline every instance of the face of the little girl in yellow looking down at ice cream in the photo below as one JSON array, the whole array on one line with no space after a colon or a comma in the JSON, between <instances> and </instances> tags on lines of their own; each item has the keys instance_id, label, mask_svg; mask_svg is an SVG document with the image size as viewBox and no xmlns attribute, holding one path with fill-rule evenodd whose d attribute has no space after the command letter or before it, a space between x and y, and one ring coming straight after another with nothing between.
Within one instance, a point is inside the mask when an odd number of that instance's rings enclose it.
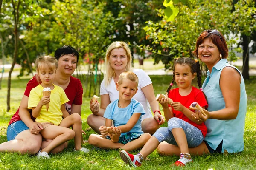
<instances>
[{"instance_id":1,"label":"face of the little girl in yellow looking down at ice cream","mask_svg":"<svg viewBox=\"0 0 256 170\"><path fill-rule=\"evenodd\" d=\"M42 81L41 86L44 88L51 87L55 77L55 68L53 71L49 67L42 66L38 70L38 75Z\"/></svg>"}]
</instances>

